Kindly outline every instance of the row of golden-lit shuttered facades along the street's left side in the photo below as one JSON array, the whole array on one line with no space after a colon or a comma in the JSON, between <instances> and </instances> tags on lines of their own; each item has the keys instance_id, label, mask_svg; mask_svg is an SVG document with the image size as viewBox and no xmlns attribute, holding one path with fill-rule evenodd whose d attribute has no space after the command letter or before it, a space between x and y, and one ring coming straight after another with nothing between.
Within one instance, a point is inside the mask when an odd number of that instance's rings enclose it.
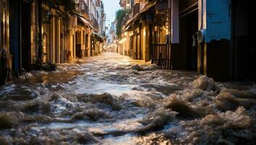
<instances>
[{"instance_id":1,"label":"row of golden-lit shuttered facades along the street's left side","mask_svg":"<svg viewBox=\"0 0 256 145\"><path fill-rule=\"evenodd\" d=\"M0 1L1 84L20 72L38 69L38 62L73 62L102 52L105 41L102 1L73 3L76 10L62 17L65 7L49 7L41 0Z\"/></svg>"}]
</instances>

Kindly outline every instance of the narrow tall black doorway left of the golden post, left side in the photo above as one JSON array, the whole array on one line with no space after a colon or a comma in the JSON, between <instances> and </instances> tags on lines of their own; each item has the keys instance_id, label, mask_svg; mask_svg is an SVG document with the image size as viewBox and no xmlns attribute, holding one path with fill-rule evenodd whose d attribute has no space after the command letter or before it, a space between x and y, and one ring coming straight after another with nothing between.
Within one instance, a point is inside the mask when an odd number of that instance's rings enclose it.
<instances>
[{"instance_id":1,"label":"narrow tall black doorway left of the golden post, left side","mask_svg":"<svg viewBox=\"0 0 256 145\"><path fill-rule=\"evenodd\" d=\"M25 70L30 70L30 2L21 2L21 65Z\"/></svg>"}]
</instances>

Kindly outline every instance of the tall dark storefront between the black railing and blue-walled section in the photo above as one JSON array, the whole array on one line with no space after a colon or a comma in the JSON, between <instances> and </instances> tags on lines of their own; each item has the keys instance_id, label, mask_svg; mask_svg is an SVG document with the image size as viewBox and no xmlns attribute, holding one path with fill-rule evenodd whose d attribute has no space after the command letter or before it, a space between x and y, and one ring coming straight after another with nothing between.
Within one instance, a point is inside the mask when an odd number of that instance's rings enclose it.
<instances>
[{"instance_id":1,"label":"tall dark storefront between the black railing and blue-walled section","mask_svg":"<svg viewBox=\"0 0 256 145\"><path fill-rule=\"evenodd\" d=\"M197 0L170 1L170 49L173 70L197 71Z\"/></svg>"}]
</instances>

